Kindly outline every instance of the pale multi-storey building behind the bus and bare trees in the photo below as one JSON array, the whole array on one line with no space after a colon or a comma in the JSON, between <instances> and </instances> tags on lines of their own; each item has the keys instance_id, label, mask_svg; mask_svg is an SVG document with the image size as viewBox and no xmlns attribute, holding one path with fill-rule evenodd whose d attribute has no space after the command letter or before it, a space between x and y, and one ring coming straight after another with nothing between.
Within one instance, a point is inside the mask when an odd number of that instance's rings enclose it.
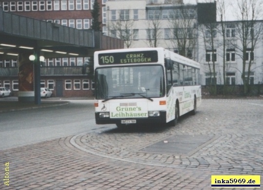
<instances>
[{"instance_id":1,"label":"pale multi-storey building behind the bus and bare trees","mask_svg":"<svg viewBox=\"0 0 263 190\"><path fill-rule=\"evenodd\" d=\"M223 35L216 21L216 2L184 4L183 0L108 0L106 2L106 35L122 38L126 48L164 47L201 63L202 85L210 78L215 65L216 83L223 80ZM215 24L213 50L207 24ZM263 21L258 21L263 23ZM243 84L242 42L238 33L240 21L224 22L226 84ZM247 43L246 68L251 60L249 82L263 83L263 34L252 51ZM250 47L249 47L250 46ZM209 69L210 66L210 69Z\"/></svg>"}]
</instances>

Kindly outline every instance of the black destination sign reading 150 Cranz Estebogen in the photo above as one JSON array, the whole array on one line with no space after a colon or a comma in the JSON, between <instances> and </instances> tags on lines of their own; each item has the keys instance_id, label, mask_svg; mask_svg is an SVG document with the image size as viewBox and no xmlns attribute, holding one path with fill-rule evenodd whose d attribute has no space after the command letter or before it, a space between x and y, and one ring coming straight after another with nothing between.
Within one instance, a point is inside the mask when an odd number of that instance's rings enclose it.
<instances>
[{"instance_id":1,"label":"black destination sign reading 150 Cranz Estebogen","mask_svg":"<svg viewBox=\"0 0 263 190\"><path fill-rule=\"evenodd\" d=\"M98 55L100 65L127 63L156 63L158 53L153 51L102 53Z\"/></svg>"}]
</instances>

